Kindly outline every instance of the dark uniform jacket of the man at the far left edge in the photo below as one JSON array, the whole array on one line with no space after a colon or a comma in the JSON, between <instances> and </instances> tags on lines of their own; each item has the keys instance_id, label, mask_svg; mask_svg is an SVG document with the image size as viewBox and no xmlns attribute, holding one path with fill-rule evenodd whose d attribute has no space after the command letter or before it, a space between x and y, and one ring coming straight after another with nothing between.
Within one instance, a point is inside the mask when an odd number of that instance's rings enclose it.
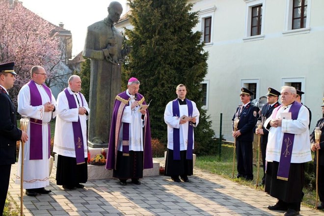
<instances>
[{"instance_id":1,"label":"dark uniform jacket of the man at the far left edge","mask_svg":"<svg viewBox=\"0 0 324 216\"><path fill-rule=\"evenodd\" d=\"M16 162L16 141L21 136L22 131L17 128L16 109L0 86L0 165Z\"/></svg>"}]
</instances>

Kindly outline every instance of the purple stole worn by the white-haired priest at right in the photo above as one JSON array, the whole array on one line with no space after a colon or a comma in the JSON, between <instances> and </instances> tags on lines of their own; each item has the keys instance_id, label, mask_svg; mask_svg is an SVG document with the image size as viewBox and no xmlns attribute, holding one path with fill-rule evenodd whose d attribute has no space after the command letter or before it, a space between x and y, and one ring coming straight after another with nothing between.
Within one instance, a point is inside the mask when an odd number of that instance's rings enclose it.
<instances>
[{"instance_id":1,"label":"purple stole worn by the white-haired priest at right","mask_svg":"<svg viewBox=\"0 0 324 216\"><path fill-rule=\"evenodd\" d=\"M283 105L280 105L278 108L275 108L273 110L274 117L277 115L279 108L281 108L282 106ZM292 120L297 119L298 112L301 106L302 105L296 101L292 104L291 108L289 109L289 112L292 113ZM281 146L281 155L280 155L277 179L288 181L290 163L293 155L294 139L295 139L294 134L284 133L282 146Z\"/></svg>"}]
</instances>

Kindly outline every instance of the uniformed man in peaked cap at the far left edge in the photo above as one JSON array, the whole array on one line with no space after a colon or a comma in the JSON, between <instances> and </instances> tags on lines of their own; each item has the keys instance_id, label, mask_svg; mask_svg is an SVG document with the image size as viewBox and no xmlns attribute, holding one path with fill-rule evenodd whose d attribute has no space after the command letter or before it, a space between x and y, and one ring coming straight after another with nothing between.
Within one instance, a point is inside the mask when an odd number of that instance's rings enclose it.
<instances>
[{"instance_id":1,"label":"uniformed man in peaked cap at the far left edge","mask_svg":"<svg viewBox=\"0 0 324 216\"><path fill-rule=\"evenodd\" d=\"M16 80L14 66L15 62L0 64L0 215L7 197L11 164L16 162L16 142L28 139L27 134L17 128L16 109L8 94Z\"/></svg>"}]
</instances>

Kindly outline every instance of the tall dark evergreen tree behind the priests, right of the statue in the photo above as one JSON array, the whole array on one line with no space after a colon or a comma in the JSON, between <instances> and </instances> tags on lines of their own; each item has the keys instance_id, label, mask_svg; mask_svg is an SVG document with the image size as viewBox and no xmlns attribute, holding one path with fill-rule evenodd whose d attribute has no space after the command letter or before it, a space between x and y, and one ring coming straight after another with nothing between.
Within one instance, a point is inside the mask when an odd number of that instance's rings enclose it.
<instances>
[{"instance_id":1,"label":"tall dark evergreen tree behind the priests, right of the statue","mask_svg":"<svg viewBox=\"0 0 324 216\"><path fill-rule=\"evenodd\" d=\"M198 23L197 12L191 12L192 4L187 0L128 0L128 3L134 29L126 29L125 33L133 50L124 64L124 77L136 77L146 101L153 99L149 108L151 122L160 125L152 128L152 138L165 141L164 109L177 97L176 86L182 83L188 88L187 98L197 104L201 114L195 128L195 149L201 150L196 151L198 154L204 153L213 143L214 132L202 109L200 83L207 74L208 53L203 50L201 32L192 31Z\"/></svg>"}]
</instances>

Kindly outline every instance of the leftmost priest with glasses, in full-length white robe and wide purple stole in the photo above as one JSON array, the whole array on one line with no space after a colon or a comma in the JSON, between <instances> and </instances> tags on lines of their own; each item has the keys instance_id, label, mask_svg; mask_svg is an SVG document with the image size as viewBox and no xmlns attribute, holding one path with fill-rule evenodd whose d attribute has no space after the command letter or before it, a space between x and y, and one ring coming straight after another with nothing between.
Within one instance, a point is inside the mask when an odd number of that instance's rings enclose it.
<instances>
[{"instance_id":1,"label":"leftmost priest with glasses, in full-length white robe and wide purple stole","mask_svg":"<svg viewBox=\"0 0 324 216\"><path fill-rule=\"evenodd\" d=\"M31 81L25 84L18 94L18 112L27 115L28 141L24 149L24 188L26 195L46 194L50 185L50 121L55 117L55 98L44 83L47 75L41 66L34 66L30 71ZM21 181L21 146L16 175L16 184Z\"/></svg>"}]
</instances>

